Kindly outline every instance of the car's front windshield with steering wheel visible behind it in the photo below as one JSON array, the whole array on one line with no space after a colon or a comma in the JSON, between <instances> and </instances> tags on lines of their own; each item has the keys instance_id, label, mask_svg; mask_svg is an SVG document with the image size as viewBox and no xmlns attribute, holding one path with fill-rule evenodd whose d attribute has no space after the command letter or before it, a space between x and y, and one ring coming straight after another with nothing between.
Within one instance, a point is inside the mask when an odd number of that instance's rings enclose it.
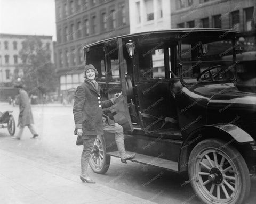
<instances>
[{"instance_id":1,"label":"car's front windshield with steering wheel visible behind it","mask_svg":"<svg viewBox=\"0 0 256 204\"><path fill-rule=\"evenodd\" d=\"M181 44L181 78L187 84L233 80L237 63L233 61L233 48L236 46L231 40Z\"/></svg>"}]
</instances>

